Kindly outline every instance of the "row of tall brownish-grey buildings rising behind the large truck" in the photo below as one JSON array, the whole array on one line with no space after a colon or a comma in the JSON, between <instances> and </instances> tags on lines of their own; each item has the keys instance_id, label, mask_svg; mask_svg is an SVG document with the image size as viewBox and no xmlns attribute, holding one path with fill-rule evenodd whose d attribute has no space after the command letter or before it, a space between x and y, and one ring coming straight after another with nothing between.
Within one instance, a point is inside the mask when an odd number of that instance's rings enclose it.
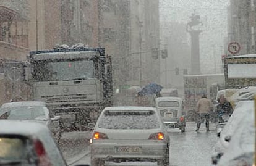
<instances>
[{"instance_id":1,"label":"row of tall brownish-grey buildings rising behind the large truck","mask_svg":"<svg viewBox=\"0 0 256 166\"><path fill-rule=\"evenodd\" d=\"M160 83L161 54L152 58L153 48L161 53L158 0L1 2L0 57L25 59L29 51L83 43L106 48L113 59L114 89ZM10 23L8 35L4 27Z\"/></svg>"}]
</instances>

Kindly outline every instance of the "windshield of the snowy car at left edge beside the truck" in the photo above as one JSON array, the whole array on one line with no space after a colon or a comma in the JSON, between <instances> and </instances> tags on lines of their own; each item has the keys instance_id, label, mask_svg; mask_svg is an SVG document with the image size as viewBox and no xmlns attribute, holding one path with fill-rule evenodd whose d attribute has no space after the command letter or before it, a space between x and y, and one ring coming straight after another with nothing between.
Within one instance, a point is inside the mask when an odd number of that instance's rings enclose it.
<instances>
[{"instance_id":1,"label":"windshield of the snowy car at left edge beside the truck","mask_svg":"<svg viewBox=\"0 0 256 166\"><path fill-rule=\"evenodd\" d=\"M45 107L40 106L20 106L4 107L0 112L7 112L9 120L47 120Z\"/></svg>"}]
</instances>

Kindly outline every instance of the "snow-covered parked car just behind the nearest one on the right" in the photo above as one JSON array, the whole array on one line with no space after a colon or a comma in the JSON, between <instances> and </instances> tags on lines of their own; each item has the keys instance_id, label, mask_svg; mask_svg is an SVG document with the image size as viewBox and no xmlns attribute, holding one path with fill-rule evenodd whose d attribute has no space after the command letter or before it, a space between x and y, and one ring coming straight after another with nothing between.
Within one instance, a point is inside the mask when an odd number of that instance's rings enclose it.
<instances>
[{"instance_id":1,"label":"snow-covered parked car just behind the nearest one on the right","mask_svg":"<svg viewBox=\"0 0 256 166\"><path fill-rule=\"evenodd\" d=\"M229 141L233 137L237 128L241 125L246 114L253 114L254 112L254 101L240 101L237 103L233 114L229 117L226 125L223 125L221 130L218 130L217 135L220 137L215 144L214 152L211 157L212 163L217 164L218 160L221 159L224 151L229 146Z\"/></svg>"}]
</instances>

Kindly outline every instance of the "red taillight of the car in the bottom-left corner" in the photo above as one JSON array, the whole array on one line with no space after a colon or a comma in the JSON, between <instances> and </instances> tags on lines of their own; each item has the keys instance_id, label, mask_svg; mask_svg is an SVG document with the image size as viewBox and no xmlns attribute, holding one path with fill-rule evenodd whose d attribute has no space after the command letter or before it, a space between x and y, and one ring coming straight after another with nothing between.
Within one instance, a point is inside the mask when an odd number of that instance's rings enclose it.
<instances>
[{"instance_id":1,"label":"red taillight of the car in the bottom-left corner","mask_svg":"<svg viewBox=\"0 0 256 166\"><path fill-rule=\"evenodd\" d=\"M45 147L40 140L35 139L33 141L36 155L38 156L38 166L51 166L51 161L46 154Z\"/></svg>"}]
</instances>

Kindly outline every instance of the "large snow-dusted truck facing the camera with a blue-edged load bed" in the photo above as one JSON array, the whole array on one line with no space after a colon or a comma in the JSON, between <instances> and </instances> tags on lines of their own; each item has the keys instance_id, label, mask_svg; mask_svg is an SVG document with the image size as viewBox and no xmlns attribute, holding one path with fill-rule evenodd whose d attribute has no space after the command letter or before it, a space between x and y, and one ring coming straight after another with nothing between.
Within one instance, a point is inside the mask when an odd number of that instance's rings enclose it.
<instances>
[{"instance_id":1,"label":"large snow-dusted truck facing the camera with a blue-edged load bed","mask_svg":"<svg viewBox=\"0 0 256 166\"><path fill-rule=\"evenodd\" d=\"M113 105L111 57L105 48L31 51L21 64L22 72L14 72L24 73L21 80L30 85L31 100L45 101L60 115L63 131L87 130L104 107Z\"/></svg>"}]
</instances>

